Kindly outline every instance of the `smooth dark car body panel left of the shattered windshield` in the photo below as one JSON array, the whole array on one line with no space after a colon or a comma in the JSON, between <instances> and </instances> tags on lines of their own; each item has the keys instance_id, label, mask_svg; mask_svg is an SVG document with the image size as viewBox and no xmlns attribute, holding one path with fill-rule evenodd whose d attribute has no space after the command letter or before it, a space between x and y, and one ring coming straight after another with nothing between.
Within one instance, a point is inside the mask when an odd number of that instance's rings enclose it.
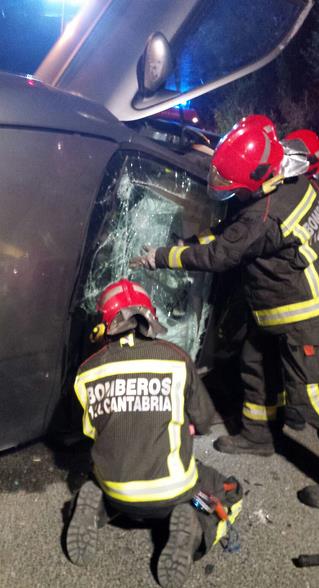
<instances>
[{"instance_id":1,"label":"smooth dark car body panel left of the shattered windshield","mask_svg":"<svg viewBox=\"0 0 319 588\"><path fill-rule=\"evenodd\" d=\"M94 102L9 74L0 87L3 450L44 434L59 403L88 227L114 153L200 172Z\"/></svg>"}]
</instances>

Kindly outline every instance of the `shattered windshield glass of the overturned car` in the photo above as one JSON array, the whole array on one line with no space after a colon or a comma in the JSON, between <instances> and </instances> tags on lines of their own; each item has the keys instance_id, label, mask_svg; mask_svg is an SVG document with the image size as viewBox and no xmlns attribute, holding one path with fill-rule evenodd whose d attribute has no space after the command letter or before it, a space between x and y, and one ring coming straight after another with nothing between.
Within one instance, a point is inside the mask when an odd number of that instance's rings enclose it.
<instances>
[{"instance_id":1,"label":"shattered windshield glass of the overturned car","mask_svg":"<svg viewBox=\"0 0 319 588\"><path fill-rule=\"evenodd\" d=\"M185 170L138 154L126 155L106 178L97 204L101 219L84 287L82 308L95 312L96 298L122 277L140 282L168 329L165 339L195 359L209 311L212 276L202 272L130 269L143 245L176 245L210 226L212 209L206 187Z\"/></svg>"}]
</instances>

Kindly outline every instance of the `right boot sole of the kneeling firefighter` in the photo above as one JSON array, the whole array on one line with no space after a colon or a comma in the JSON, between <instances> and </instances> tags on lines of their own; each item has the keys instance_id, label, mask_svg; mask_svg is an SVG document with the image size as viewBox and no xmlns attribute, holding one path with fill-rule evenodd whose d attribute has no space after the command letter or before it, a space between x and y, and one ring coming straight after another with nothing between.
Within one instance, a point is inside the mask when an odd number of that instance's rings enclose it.
<instances>
[{"instance_id":1,"label":"right boot sole of the kneeling firefighter","mask_svg":"<svg viewBox=\"0 0 319 588\"><path fill-rule=\"evenodd\" d=\"M169 538L158 561L157 575L162 588L184 586L202 540L202 528L195 509L188 503L174 508Z\"/></svg>"}]
</instances>

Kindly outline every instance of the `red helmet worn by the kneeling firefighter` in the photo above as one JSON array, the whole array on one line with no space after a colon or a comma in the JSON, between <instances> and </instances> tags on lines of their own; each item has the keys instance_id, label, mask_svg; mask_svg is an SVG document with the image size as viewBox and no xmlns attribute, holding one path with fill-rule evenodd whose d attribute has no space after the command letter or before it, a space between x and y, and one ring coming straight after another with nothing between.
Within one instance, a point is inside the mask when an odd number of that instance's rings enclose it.
<instances>
[{"instance_id":1,"label":"red helmet worn by the kneeling firefighter","mask_svg":"<svg viewBox=\"0 0 319 588\"><path fill-rule=\"evenodd\" d=\"M152 339L166 332L156 318L156 310L147 292L140 284L127 279L109 284L100 295L96 309L103 315L108 335L136 327ZM138 317L144 320L139 321Z\"/></svg>"}]
</instances>

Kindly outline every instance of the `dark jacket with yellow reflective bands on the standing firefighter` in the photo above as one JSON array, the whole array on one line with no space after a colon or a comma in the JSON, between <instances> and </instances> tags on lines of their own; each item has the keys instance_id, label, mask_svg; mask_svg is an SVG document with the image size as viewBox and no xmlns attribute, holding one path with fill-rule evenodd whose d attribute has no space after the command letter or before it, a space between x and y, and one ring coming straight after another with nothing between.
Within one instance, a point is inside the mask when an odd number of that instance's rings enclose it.
<instances>
[{"instance_id":1,"label":"dark jacket with yellow reflective bands on the standing firefighter","mask_svg":"<svg viewBox=\"0 0 319 588\"><path fill-rule=\"evenodd\" d=\"M300 176L249 200L207 244L159 247L156 267L223 272L241 265L258 325L319 316L319 197Z\"/></svg>"}]
</instances>

